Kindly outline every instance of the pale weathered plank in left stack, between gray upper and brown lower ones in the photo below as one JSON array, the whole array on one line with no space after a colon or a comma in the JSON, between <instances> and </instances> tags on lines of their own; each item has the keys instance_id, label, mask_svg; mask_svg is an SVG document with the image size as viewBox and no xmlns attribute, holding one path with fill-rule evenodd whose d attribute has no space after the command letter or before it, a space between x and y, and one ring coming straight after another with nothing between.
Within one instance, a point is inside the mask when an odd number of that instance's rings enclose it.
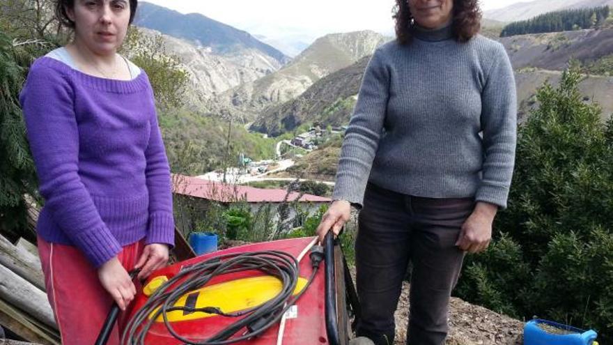
<instances>
[{"instance_id":1,"label":"pale weathered plank in left stack, between gray upper and brown lower ones","mask_svg":"<svg viewBox=\"0 0 613 345\"><path fill-rule=\"evenodd\" d=\"M46 325L57 328L47 294L12 270L0 265L0 298Z\"/></svg>"}]
</instances>

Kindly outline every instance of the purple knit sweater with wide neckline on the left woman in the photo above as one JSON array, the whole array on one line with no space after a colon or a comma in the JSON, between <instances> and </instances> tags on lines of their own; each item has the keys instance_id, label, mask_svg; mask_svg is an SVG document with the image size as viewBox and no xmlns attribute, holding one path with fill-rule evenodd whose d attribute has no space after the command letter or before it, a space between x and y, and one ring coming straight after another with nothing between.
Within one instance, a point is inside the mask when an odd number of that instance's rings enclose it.
<instances>
[{"instance_id":1,"label":"purple knit sweater with wide neckline on the left woman","mask_svg":"<svg viewBox=\"0 0 613 345\"><path fill-rule=\"evenodd\" d=\"M49 57L20 95L45 207L37 231L75 245L93 266L123 245L173 245L170 171L145 72L86 75Z\"/></svg>"}]
</instances>

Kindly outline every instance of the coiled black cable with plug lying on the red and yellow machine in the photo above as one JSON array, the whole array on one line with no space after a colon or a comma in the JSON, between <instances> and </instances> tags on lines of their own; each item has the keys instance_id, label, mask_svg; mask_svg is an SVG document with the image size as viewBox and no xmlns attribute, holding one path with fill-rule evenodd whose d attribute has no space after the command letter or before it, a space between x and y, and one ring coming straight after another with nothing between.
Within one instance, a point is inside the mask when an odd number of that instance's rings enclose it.
<instances>
[{"instance_id":1,"label":"coiled black cable with plug lying on the red and yellow machine","mask_svg":"<svg viewBox=\"0 0 613 345\"><path fill-rule=\"evenodd\" d=\"M203 308L173 307L179 298L189 291L201 289L213 277L245 270L259 270L266 275L277 277L282 283L281 292L271 300L263 303L263 305L235 313L225 313L215 306ZM143 345L148 330L159 316L162 316L162 319L164 319L168 332L185 344L225 345L242 342L245 339L260 335L279 322L287 309L309 288L317 270L318 265L313 265L313 272L309 277L307 285L297 295L293 296L293 291L298 282L298 262L292 255L286 252L267 250L225 254L183 267L180 273L169 279L168 282L164 283L155 293L149 296L146 304L134 314L123 332L121 344ZM228 325L209 339L199 342L194 339L187 339L187 337L179 335L173 329L166 313L176 310L245 317ZM241 330L243 332L237 336L237 333Z\"/></svg>"}]
</instances>

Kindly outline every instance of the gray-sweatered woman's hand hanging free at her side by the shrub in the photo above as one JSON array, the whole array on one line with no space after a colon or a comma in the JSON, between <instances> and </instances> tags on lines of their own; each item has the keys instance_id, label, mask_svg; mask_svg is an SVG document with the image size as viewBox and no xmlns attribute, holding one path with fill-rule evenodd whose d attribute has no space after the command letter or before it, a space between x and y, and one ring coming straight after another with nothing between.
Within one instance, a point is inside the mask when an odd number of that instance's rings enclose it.
<instances>
[{"instance_id":1,"label":"gray-sweatered woman's hand hanging free at her side by the shrub","mask_svg":"<svg viewBox=\"0 0 613 345\"><path fill-rule=\"evenodd\" d=\"M498 206L477 202L472 214L462 225L456 245L469 253L486 250L492 240L492 222Z\"/></svg>"}]
</instances>

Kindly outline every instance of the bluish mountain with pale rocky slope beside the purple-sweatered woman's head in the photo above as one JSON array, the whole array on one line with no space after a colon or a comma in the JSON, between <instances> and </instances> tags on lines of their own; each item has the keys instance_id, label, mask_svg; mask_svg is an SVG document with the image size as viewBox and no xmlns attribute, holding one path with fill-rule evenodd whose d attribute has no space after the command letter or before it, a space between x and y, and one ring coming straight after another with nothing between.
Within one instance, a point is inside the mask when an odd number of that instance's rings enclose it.
<instances>
[{"instance_id":1,"label":"bluish mountain with pale rocky slope beside the purple-sweatered woman's head","mask_svg":"<svg viewBox=\"0 0 613 345\"><path fill-rule=\"evenodd\" d=\"M134 24L146 35L162 33L166 49L185 63L201 100L269 75L290 61L246 31L200 14L183 15L141 2Z\"/></svg>"}]
</instances>

